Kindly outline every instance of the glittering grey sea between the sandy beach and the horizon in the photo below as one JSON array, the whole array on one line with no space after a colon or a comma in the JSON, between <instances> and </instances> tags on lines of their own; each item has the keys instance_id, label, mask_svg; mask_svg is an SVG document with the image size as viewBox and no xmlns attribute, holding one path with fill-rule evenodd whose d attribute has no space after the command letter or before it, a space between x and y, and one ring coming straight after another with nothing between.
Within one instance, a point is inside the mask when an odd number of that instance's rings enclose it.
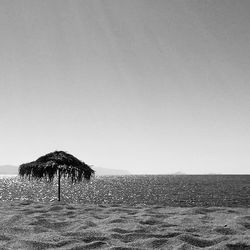
<instances>
[{"instance_id":1,"label":"glittering grey sea between the sandy beach and the horizon","mask_svg":"<svg viewBox=\"0 0 250 250\"><path fill-rule=\"evenodd\" d=\"M0 201L57 200L57 180L1 176ZM250 207L250 175L100 176L72 184L61 181L69 203L171 207Z\"/></svg>"}]
</instances>

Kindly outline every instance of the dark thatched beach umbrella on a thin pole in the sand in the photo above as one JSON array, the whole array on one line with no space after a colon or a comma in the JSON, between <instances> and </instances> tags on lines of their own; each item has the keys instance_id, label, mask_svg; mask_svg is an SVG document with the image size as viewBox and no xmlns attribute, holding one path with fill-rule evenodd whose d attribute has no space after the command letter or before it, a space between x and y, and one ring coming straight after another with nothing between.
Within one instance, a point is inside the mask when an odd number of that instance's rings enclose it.
<instances>
[{"instance_id":1,"label":"dark thatched beach umbrella on a thin pole in the sand","mask_svg":"<svg viewBox=\"0 0 250 250\"><path fill-rule=\"evenodd\" d=\"M89 180L94 173L95 171L90 166L64 151L46 154L36 161L22 164L19 167L19 175L22 177L45 178L52 181L55 176L58 176L59 201L61 176L70 178L72 183L75 183L83 179Z\"/></svg>"}]
</instances>

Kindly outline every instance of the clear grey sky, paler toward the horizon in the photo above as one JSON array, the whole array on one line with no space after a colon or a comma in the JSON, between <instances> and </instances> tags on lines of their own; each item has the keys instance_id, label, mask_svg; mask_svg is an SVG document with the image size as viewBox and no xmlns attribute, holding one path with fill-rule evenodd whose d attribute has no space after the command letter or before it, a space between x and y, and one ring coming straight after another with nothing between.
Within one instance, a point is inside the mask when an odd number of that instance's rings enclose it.
<instances>
[{"instance_id":1,"label":"clear grey sky, paler toward the horizon","mask_svg":"<svg viewBox=\"0 0 250 250\"><path fill-rule=\"evenodd\" d=\"M66 150L134 174L250 174L249 0L1 0L0 165Z\"/></svg>"}]
</instances>

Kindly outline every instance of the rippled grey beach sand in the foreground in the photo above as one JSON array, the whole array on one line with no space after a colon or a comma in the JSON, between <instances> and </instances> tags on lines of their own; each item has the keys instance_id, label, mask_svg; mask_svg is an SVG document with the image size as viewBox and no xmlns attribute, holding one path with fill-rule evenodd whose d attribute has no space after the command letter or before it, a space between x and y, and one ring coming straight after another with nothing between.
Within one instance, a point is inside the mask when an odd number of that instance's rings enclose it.
<instances>
[{"instance_id":1,"label":"rippled grey beach sand in the foreground","mask_svg":"<svg viewBox=\"0 0 250 250\"><path fill-rule=\"evenodd\" d=\"M249 208L2 202L0 249L250 249Z\"/></svg>"}]
</instances>

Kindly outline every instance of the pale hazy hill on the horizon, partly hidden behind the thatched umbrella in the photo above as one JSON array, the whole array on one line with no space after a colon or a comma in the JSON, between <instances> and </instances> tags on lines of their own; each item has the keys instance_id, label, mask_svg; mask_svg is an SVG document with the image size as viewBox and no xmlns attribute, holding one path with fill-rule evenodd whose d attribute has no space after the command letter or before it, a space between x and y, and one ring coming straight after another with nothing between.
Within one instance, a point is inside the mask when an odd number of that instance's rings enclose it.
<instances>
[{"instance_id":1,"label":"pale hazy hill on the horizon, partly hidden behind the thatched umbrella","mask_svg":"<svg viewBox=\"0 0 250 250\"><path fill-rule=\"evenodd\" d=\"M101 175L130 175L127 170L118 170L118 169L109 169L109 168L97 168L93 167L96 171L97 176ZM18 166L12 165L1 165L0 166L0 175L17 175Z\"/></svg>"}]
</instances>

